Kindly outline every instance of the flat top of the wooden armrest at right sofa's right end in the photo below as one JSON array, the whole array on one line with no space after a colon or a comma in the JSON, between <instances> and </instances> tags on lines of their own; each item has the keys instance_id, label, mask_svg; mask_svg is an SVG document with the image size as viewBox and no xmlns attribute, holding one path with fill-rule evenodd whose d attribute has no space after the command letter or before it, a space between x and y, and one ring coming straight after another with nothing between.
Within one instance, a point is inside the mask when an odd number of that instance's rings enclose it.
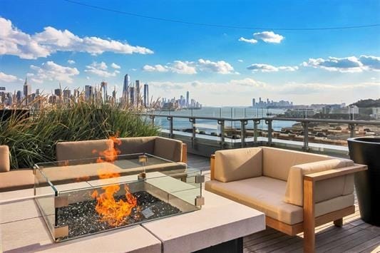
<instances>
[{"instance_id":1,"label":"flat top of the wooden armrest at right sofa's right end","mask_svg":"<svg viewBox=\"0 0 380 253\"><path fill-rule=\"evenodd\" d=\"M316 173L304 175L304 180L316 182L319 180L327 180L329 178L340 177L343 175L348 175L351 173L364 171L364 170L367 170L366 165L354 164L354 165L349 166L349 167L341 167L341 168L334 169L334 170L325 170L322 172L316 172Z\"/></svg>"}]
</instances>

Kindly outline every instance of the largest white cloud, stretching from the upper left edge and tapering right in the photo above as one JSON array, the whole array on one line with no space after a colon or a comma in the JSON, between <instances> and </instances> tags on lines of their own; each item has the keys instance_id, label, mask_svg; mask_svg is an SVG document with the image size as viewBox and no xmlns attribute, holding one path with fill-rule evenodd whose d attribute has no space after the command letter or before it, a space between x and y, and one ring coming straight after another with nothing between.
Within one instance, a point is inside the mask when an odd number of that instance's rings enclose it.
<instances>
[{"instance_id":1,"label":"largest white cloud, stretching from the upper left edge and tapering right","mask_svg":"<svg viewBox=\"0 0 380 253\"><path fill-rule=\"evenodd\" d=\"M113 53L153 53L149 48L131 46L126 42L103 39L95 36L79 37L68 30L47 26L40 33L30 35L17 29L8 19L0 18L0 55L36 59L50 56L57 51L76 51L98 55Z\"/></svg>"}]
</instances>

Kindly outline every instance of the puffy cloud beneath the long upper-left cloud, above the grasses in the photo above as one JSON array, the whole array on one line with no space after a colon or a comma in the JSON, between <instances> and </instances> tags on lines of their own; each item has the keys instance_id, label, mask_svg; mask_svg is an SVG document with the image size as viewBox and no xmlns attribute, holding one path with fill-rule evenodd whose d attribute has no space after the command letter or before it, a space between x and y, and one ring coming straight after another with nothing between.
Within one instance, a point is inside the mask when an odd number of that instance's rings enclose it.
<instances>
[{"instance_id":1,"label":"puffy cloud beneath the long upper-left cloud, above the grasses","mask_svg":"<svg viewBox=\"0 0 380 253\"><path fill-rule=\"evenodd\" d=\"M31 81L35 83L43 83L43 81L61 81L73 83L73 76L78 76L79 71L76 68L58 65L53 61L42 63L41 66L31 65L31 69L35 72Z\"/></svg>"}]
</instances>

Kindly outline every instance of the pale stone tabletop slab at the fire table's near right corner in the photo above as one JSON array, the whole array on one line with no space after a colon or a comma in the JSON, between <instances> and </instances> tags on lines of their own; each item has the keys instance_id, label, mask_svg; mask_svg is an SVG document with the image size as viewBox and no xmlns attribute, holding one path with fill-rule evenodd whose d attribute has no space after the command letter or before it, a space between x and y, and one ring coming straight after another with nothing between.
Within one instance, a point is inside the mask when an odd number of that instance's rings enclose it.
<instances>
[{"instance_id":1,"label":"pale stone tabletop slab at the fire table's near right corner","mask_svg":"<svg viewBox=\"0 0 380 253\"><path fill-rule=\"evenodd\" d=\"M203 193L201 210L142 224L163 242L163 252L194 252L265 229L262 212Z\"/></svg>"}]
</instances>

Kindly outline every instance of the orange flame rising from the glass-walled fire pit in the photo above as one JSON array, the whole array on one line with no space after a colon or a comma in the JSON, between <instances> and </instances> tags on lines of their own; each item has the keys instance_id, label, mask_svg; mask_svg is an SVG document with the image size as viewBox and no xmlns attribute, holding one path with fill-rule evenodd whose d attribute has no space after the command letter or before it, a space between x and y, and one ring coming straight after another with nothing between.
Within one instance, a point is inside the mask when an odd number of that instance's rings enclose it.
<instances>
[{"instance_id":1,"label":"orange flame rising from the glass-walled fire pit","mask_svg":"<svg viewBox=\"0 0 380 253\"><path fill-rule=\"evenodd\" d=\"M116 137L111 137L110 139L113 140L114 146L121 144L120 139ZM117 148L101 151L99 152L100 157L96 162L114 162L119 154L120 150ZM112 171L112 169L108 167L98 170L98 177L99 179L109 179L120 177L120 174ZM113 197L115 193L120 190L120 185L105 185L102 189L104 190L103 193L99 194L97 190L94 190L91 194L91 197L96 199L95 210L101 217L102 222L107 222L112 227L120 226L123 224L125 217L130 215L133 207L136 207L137 200L135 196L130 193L127 185L124 186L126 201L115 200L115 197Z\"/></svg>"}]
</instances>

